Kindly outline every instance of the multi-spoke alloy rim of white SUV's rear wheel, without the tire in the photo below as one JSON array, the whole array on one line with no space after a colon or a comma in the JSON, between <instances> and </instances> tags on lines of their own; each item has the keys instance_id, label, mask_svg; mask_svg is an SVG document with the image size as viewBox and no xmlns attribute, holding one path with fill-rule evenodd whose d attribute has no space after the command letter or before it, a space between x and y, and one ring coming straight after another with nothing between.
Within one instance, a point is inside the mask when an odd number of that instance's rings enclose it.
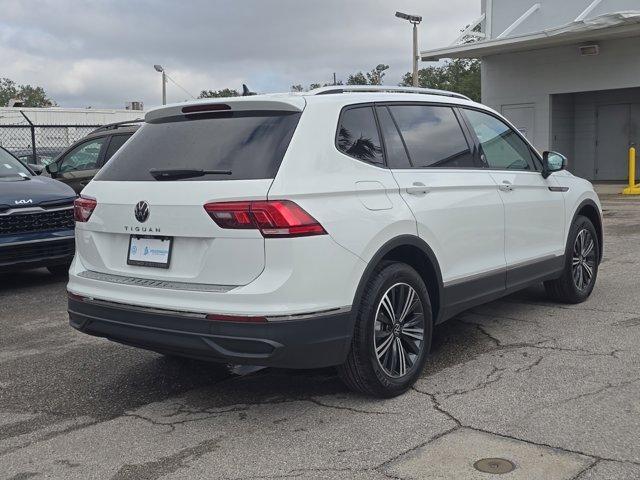
<instances>
[{"instance_id":1,"label":"multi-spoke alloy rim of white SUV's rear wheel, without the tire","mask_svg":"<svg viewBox=\"0 0 640 480\"><path fill-rule=\"evenodd\" d=\"M376 310L373 343L378 364L393 378L412 371L424 348L424 310L415 289L396 283Z\"/></svg>"}]
</instances>

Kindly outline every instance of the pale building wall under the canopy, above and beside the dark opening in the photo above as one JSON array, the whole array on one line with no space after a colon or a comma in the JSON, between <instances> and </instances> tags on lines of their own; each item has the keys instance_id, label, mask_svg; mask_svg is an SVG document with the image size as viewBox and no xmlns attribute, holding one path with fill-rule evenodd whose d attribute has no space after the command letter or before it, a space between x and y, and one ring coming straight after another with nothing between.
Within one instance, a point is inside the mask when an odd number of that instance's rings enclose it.
<instances>
[{"instance_id":1,"label":"pale building wall under the canopy, above and beside the dark opening","mask_svg":"<svg viewBox=\"0 0 640 480\"><path fill-rule=\"evenodd\" d=\"M533 104L531 141L549 149L551 94L640 87L640 38L598 43L600 55L592 57L580 56L577 45L484 57L482 102L498 111Z\"/></svg>"}]
</instances>

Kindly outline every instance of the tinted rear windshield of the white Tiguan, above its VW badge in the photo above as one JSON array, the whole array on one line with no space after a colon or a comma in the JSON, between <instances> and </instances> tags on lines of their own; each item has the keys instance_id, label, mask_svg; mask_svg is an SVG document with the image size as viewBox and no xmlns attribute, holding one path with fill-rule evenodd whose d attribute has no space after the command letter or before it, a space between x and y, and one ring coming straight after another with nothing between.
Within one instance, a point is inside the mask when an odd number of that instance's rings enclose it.
<instances>
[{"instance_id":1,"label":"tinted rear windshield of the white Tiguan, above its VW badge","mask_svg":"<svg viewBox=\"0 0 640 480\"><path fill-rule=\"evenodd\" d=\"M300 113L221 112L145 123L96 180L157 181L149 170L225 170L180 181L274 178Z\"/></svg>"}]
</instances>

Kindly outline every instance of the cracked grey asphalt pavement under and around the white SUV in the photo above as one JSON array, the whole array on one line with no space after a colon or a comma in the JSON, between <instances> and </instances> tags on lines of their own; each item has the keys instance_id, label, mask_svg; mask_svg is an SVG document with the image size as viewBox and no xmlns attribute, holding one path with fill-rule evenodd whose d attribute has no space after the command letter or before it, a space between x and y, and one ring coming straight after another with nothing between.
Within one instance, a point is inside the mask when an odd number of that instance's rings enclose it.
<instances>
[{"instance_id":1,"label":"cracked grey asphalt pavement under and around the white SUV","mask_svg":"<svg viewBox=\"0 0 640 480\"><path fill-rule=\"evenodd\" d=\"M639 479L640 201L604 205L587 302L465 312L384 401L332 369L242 376L89 337L63 279L0 274L0 478Z\"/></svg>"}]
</instances>

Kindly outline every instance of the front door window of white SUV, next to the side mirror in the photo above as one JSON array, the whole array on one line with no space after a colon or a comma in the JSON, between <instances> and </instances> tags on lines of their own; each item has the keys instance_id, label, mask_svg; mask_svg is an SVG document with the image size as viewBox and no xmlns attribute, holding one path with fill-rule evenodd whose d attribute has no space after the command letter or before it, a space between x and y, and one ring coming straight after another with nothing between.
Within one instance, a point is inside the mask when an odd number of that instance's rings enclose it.
<instances>
[{"instance_id":1,"label":"front door window of white SUV, next to the side mirror","mask_svg":"<svg viewBox=\"0 0 640 480\"><path fill-rule=\"evenodd\" d=\"M465 114L480 141L482 160L489 168L532 169L529 146L506 123L477 110L465 109Z\"/></svg>"}]
</instances>

